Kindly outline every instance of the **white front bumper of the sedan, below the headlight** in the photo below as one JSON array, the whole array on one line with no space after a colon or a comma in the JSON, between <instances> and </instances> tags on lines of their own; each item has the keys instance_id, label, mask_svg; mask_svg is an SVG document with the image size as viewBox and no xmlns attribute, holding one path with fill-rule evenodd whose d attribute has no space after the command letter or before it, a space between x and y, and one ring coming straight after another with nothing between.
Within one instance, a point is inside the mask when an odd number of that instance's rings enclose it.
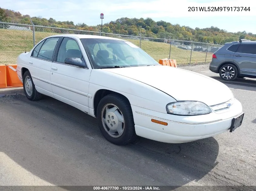
<instances>
[{"instance_id":1,"label":"white front bumper of the sedan, below the headlight","mask_svg":"<svg viewBox=\"0 0 256 191\"><path fill-rule=\"evenodd\" d=\"M242 114L238 100L225 113L200 116L175 116L132 106L135 132L138 136L166 143L184 143L208 138L225 131L231 126L232 119ZM167 126L153 123L156 119L168 123Z\"/></svg>"}]
</instances>

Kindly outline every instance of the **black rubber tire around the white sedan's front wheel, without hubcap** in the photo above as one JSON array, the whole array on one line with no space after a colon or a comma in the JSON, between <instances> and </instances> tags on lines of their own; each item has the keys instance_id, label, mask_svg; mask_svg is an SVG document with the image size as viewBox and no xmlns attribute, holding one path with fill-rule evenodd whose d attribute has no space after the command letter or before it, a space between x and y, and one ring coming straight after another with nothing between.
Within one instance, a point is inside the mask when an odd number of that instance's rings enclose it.
<instances>
[{"instance_id":1,"label":"black rubber tire around the white sedan's front wheel, without hubcap","mask_svg":"<svg viewBox=\"0 0 256 191\"><path fill-rule=\"evenodd\" d=\"M102 122L101 116L104 114L103 109L107 104L114 104L115 106L117 106L123 115L125 125L124 125L123 132L120 137L112 137L111 135L109 135L109 133L107 132L107 130L105 130L105 128L103 126L104 122ZM127 145L136 140L137 136L135 133L131 105L129 104L128 100L126 100L121 95L109 94L100 100L100 102L98 104L98 108L97 108L97 120L98 120L98 126L100 128L102 135L109 142L111 142L115 145Z\"/></svg>"}]
</instances>

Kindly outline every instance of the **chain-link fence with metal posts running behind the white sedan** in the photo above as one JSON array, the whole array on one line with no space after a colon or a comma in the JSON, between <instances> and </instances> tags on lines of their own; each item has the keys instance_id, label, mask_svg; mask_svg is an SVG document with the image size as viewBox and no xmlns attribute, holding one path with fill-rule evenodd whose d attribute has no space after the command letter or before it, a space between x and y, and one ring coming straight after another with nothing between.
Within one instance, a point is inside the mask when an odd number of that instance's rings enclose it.
<instances>
[{"instance_id":1,"label":"chain-link fence with metal posts running behind the white sedan","mask_svg":"<svg viewBox=\"0 0 256 191\"><path fill-rule=\"evenodd\" d=\"M101 35L124 39L141 47L157 62L159 59L176 59L177 64L194 64L211 62L212 54L222 45L201 42L173 40L171 38L151 38L114 33L64 29L28 24L0 22L0 64L15 64L17 56L30 51L45 37L56 34Z\"/></svg>"}]
</instances>

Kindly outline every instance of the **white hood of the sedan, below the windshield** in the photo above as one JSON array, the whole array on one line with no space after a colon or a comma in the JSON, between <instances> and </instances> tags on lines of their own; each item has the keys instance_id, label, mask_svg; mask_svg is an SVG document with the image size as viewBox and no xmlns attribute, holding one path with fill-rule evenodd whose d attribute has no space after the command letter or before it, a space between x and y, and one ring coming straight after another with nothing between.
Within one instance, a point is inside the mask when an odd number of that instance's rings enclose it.
<instances>
[{"instance_id":1,"label":"white hood of the sedan, below the windshield","mask_svg":"<svg viewBox=\"0 0 256 191\"><path fill-rule=\"evenodd\" d=\"M212 106L224 103L233 97L231 90L225 84L181 68L160 65L103 70L148 84L176 100L201 101Z\"/></svg>"}]
</instances>

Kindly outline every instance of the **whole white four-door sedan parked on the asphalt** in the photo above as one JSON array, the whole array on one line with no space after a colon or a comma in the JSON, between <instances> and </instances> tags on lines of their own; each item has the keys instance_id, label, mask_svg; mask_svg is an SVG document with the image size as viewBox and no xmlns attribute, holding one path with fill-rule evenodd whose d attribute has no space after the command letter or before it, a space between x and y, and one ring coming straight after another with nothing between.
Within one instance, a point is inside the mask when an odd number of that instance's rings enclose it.
<instances>
[{"instance_id":1,"label":"whole white four-door sedan parked on the asphalt","mask_svg":"<svg viewBox=\"0 0 256 191\"><path fill-rule=\"evenodd\" d=\"M117 145L136 135L191 142L241 126L241 103L223 83L158 64L134 44L110 37L55 35L17 59L29 100L42 95L98 119ZM58 127L57 127L58 128Z\"/></svg>"}]
</instances>

